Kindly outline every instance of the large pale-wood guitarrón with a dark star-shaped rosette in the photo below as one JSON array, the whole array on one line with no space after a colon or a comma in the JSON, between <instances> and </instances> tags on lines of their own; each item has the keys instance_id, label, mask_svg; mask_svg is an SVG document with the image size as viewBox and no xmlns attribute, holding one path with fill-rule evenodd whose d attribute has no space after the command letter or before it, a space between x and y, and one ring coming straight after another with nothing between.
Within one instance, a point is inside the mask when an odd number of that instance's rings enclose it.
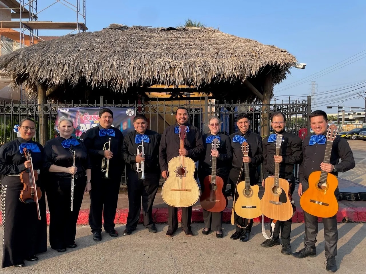
<instances>
[{"instance_id":1,"label":"large pale-wood guitarr\u00f3n with a dark star-shaped rosette","mask_svg":"<svg viewBox=\"0 0 366 274\"><path fill-rule=\"evenodd\" d=\"M179 126L180 148L184 148L187 126ZM161 189L164 202L177 208L194 205L199 199L199 188L194 179L196 165L186 156L173 157L168 163L168 178Z\"/></svg>"}]
</instances>

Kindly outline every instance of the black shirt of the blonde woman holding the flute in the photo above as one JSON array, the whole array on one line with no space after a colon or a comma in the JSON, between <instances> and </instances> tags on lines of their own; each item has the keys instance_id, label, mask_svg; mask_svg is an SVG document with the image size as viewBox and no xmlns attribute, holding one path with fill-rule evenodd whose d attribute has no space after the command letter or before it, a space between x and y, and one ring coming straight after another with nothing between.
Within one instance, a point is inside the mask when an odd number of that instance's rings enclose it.
<instances>
[{"instance_id":1,"label":"black shirt of the blonde woman holding the flute","mask_svg":"<svg viewBox=\"0 0 366 274\"><path fill-rule=\"evenodd\" d=\"M70 139L72 139L70 137ZM51 165L59 167L72 167L74 162L75 151L75 167L78 168L76 175L85 175L85 171L91 168L90 158L87 156L87 149L81 140L78 140L79 145L71 145L70 148L64 148L62 142L66 140L61 136L57 136L45 143L44 147L44 169L49 171ZM71 178L71 174L67 172L49 172L51 176L61 178Z\"/></svg>"}]
</instances>

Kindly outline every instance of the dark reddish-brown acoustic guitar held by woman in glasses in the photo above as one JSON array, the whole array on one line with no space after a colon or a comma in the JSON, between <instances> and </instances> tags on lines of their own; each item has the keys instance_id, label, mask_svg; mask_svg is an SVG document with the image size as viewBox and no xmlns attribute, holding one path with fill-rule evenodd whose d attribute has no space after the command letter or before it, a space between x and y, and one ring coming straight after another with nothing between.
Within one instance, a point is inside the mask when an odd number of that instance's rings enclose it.
<instances>
[{"instance_id":1,"label":"dark reddish-brown acoustic guitar held by woman in glasses","mask_svg":"<svg viewBox=\"0 0 366 274\"><path fill-rule=\"evenodd\" d=\"M215 138L212 141L212 150L219 148L220 141ZM203 192L199 198L199 203L203 209L210 212L221 212L228 205L228 199L223 193L224 180L216 175L216 156L212 156L211 175L203 180Z\"/></svg>"}]
</instances>

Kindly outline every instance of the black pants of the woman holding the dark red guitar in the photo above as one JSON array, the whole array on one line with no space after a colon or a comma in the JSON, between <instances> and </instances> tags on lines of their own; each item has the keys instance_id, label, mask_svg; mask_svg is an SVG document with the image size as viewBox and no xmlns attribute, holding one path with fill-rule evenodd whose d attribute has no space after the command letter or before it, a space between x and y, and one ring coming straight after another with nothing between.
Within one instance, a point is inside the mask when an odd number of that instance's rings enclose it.
<instances>
[{"instance_id":1,"label":"black pants of the woman holding the dark red guitar","mask_svg":"<svg viewBox=\"0 0 366 274\"><path fill-rule=\"evenodd\" d=\"M211 175L211 171L209 170L200 170L198 171L198 179L201 184L201 193L205 191L205 185L203 184L203 180L206 176ZM224 181L223 191L226 189L228 174L217 174ZM224 194L225 195L225 194ZM222 231L223 228L223 212L210 212L203 209L203 221L205 222L205 228L212 228L214 231Z\"/></svg>"}]
</instances>

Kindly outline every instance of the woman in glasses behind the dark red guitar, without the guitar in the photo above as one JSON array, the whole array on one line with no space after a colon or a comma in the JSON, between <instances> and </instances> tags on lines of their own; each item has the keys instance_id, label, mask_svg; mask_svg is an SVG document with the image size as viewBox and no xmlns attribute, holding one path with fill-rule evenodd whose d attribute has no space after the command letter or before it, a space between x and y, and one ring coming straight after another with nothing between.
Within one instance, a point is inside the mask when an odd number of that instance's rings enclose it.
<instances>
[{"instance_id":1,"label":"woman in glasses behind the dark red guitar, without the guitar","mask_svg":"<svg viewBox=\"0 0 366 274\"><path fill-rule=\"evenodd\" d=\"M210 183L215 182L211 177L211 182L207 181L208 184L204 183L206 176L212 175L212 168L215 168L212 165L213 158L215 158L214 160L216 163L216 176L219 176L221 177L221 179L223 179L223 192L226 189L226 184L229 176L229 168L231 166L232 160L230 138L225 134L220 133L221 123L219 118L217 116L210 117L208 121L208 127L210 129L210 132L202 136L205 153L204 155L202 155L203 157L199 160L198 168L198 179L201 184L202 195L204 195L205 193L205 186L208 187ZM219 144L218 147L213 148L212 143L215 139L219 141ZM214 144L217 144L216 141ZM217 179L216 177L216 182L218 181L219 179ZM226 195L225 193L222 194L222 197L224 197L224 199L226 200L225 203L227 205ZM214 231L216 231L216 237L222 238L222 215L223 211L210 212L203 209L203 220L205 222L205 228L202 230L202 234L208 235L211 229L213 229Z\"/></svg>"}]
</instances>

